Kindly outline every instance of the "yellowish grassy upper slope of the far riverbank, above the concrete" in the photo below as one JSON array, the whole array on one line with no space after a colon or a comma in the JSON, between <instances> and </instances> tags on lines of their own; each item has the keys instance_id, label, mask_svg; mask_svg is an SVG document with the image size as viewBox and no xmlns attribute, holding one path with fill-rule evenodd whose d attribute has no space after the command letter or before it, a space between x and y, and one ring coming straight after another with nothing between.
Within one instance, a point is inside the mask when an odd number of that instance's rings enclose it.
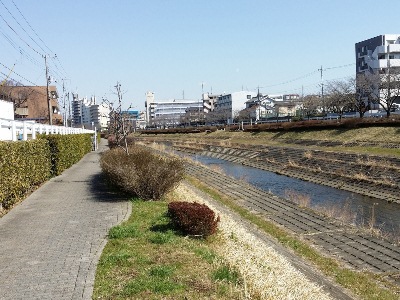
<instances>
[{"instance_id":1,"label":"yellowish grassy upper slope of the far riverbank, above the concrete","mask_svg":"<svg viewBox=\"0 0 400 300\"><path fill-rule=\"evenodd\" d=\"M320 130L277 130L269 132L244 132L216 130L213 132L146 134L136 133L136 139L179 140L211 143L220 146L276 145L305 147L319 150L343 151L400 157L400 127L376 126L369 128L337 128Z\"/></svg>"}]
</instances>

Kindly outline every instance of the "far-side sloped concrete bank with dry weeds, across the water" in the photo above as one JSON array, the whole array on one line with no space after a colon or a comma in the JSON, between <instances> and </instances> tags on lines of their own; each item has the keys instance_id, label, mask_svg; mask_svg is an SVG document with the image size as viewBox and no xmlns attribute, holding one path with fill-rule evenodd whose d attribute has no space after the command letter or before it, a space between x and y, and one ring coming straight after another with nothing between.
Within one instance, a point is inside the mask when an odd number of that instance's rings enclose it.
<instances>
[{"instance_id":1,"label":"far-side sloped concrete bank with dry weeds, across the water","mask_svg":"<svg viewBox=\"0 0 400 300\"><path fill-rule=\"evenodd\" d=\"M142 141L148 141L143 139ZM151 142L154 142L151 140ZM280 146L162 141L176 150L224 159L388 202L400 203L400 159Z\"/></svg>"}]
</instances>

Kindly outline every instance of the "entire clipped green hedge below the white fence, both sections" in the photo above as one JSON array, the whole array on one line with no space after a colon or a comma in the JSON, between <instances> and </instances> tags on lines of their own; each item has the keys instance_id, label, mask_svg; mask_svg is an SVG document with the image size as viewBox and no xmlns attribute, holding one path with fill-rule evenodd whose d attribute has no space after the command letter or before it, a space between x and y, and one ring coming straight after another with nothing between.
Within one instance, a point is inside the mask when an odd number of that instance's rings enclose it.
<instances>
[{"instance_id":1,"label":"entire clipped green hedge below the white fence, both sections","mask_svg":"<svg viewBox=\"0 0 400 300\"><path fill-rule=\"evenodd\" d=\"M0 142L0 207L8 209L91 150L90 135L50 135Z\"/></svg>"}]
</instances>

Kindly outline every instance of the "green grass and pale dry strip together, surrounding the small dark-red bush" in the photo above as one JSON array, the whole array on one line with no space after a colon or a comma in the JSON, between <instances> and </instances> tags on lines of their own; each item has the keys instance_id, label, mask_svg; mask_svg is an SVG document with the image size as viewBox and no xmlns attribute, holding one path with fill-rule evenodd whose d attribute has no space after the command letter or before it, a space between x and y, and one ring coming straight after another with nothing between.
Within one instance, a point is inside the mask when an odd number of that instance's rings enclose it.
<instances>
[{"instance_id":1,"label":"green grass and pale dry strip together, surrounding the small dark-red bush","mask_svg":"<svg viewBox=\"0 0 400 300\"><path fill-rule=\"evenodd\" d=\"M180 185L165 201L132 200L97 266L93 299L331 299L239 222ZM212 207L221 221L208 238L182 235L171 201Z\"/></svg>"}]
</instances>

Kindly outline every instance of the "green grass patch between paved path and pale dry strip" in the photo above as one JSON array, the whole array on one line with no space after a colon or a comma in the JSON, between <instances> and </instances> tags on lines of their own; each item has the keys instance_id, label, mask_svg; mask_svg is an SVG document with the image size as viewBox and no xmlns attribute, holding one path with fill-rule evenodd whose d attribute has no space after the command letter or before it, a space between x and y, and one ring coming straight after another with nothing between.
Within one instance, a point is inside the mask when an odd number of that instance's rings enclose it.
<instances>
[{"instance_id":1,"label":"green grass patch between paved path and pale dry strip","mask_svg":"<svg viewBox=\"0 0 400 300\"><path fill-rule=\"evenodd\" d=\"M132 201L129 220L109 232L93 299L242 299L237 273L216 263L218 238L182 236L166 212L164 201Z\"/></svg>"}]
</instances>

